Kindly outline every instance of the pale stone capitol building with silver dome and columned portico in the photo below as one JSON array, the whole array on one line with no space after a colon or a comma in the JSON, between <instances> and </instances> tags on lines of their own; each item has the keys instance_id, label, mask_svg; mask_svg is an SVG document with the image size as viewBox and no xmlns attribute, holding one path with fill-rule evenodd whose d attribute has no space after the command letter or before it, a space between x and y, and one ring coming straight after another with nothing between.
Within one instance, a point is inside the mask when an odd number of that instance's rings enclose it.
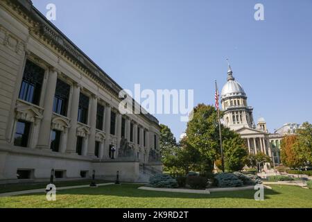
<instances>
[{"instance_id":1,"label":"pale stone capitol building with silver dome and columned portico","mask_svg":"<svg viewBox=\"0 0 312 222\"><path fill-rule=\"evenodd\" d=\"M269 133L266 120L260 117L254 122L253 108L248 105L248 96L243 87L233 76L229 65L227 83L221 92L221 105L224 112L223 125L239 133L248 147L249 153L265 153L275 164L280 164L279 148L284 135L295 133L299 127L296 123L286 123L284 126Z\"/></svg>"}]
</instances>

